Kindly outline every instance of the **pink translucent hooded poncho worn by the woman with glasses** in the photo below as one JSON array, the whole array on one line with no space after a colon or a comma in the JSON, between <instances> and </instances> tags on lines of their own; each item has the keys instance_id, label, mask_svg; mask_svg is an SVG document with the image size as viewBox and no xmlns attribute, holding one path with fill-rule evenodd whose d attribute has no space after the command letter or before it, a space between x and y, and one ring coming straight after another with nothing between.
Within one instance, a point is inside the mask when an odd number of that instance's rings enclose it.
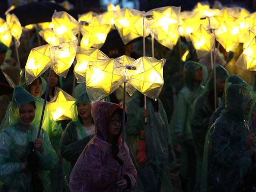
<instances>
[{"instance_id":1,"label":"pink translucent hooded poncho worn by the woman with glasses","mask_svg":"<svg viewBox=\"0 0 256 192\"><path fill-rule=\"evenodd\" d=\"M71 192L121 191L116 182L121 179L122 166L114 159L112 146L107 141L110 117L115 110L120 108L122 105L110 102L97 101L92 104L92 118L96 127L96 136L88 142L70 174L69 188ZM122 130L119 134L121 132ZM118 144L120 142L121 140ZM137 173L126 143L124 150L126 151L126 160L123 164L124 176L130 178L130 190L134 190Z\"/></svg>"}]
</instances>

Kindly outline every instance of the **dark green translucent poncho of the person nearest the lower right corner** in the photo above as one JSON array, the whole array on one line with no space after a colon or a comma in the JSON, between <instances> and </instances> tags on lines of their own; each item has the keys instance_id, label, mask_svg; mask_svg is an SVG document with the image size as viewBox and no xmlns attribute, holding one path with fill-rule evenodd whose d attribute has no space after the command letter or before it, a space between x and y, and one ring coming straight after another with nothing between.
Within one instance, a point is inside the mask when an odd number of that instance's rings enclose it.
<instances>
[{"instance_id":1,"label":"dark green translucent poncho of the person nearest the lower right corner","mask_svg":"<svg viewBox=\"0 0 256 192\"><path fill-rule=\"evenodd\" d=\"M245 140L252 128L244 114L252 98L255 92L244 86L234 84L227 88L226 109L206 135L201 191L241 191L242 178L252 167Z\"/></svg>"}]
</instances>

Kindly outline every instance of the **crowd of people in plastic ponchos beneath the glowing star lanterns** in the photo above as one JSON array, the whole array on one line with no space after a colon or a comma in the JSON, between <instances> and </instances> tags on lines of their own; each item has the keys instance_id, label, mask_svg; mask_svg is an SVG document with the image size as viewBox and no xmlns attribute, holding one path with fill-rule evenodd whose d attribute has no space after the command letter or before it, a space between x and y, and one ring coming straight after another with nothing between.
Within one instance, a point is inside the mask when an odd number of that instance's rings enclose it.
<instances>
[{"instance_id":1,"label":"crowd of people in plastic ponchos beneath the glowing star lanterns","mask_svg":"<svg viewBox=\"0 0 256 192\"><path fill-rule=\"evenodd\" d=\"M134 45L140 42L108 56L138 58ZM155 50L156 58L167 58L164 88L157 101L145 102L138 91L127 97L124 138L122 88L91 102L82 83L73 92L72 119L54 121L46 106L38 137L50 70L27 85L25 70L6 62L10 49L0 43L1 70L16 84L0 96L0 191L174 192L171 171L183 192L255 191L256 92L243 80L252 75L229 74L220 63L214 77L210 61L198 61L189 43ZM190 54L182 61L185 50ZM47 102L57 87L72 94L73 77L72 69L67 79L52 72Z\"/></svg>"}]
</instances>

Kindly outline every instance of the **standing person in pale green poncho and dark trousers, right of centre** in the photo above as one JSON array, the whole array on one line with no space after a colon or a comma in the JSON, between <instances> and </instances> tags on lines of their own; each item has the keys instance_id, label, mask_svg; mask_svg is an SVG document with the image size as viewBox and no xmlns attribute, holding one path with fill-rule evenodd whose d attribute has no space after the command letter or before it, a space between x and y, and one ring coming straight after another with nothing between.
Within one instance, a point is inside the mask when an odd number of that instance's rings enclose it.
<instances>
[{"instance_id":1,"label":"standing person in pale green poncho and dark trousers, right of centre","mask_svg":"<svg viewBox=\"0 0 256 192\"><path fill-rule=\"evenodd\" d=\"M196 156L190 128L191 106L202 93L202 84L208 76L207 68L197 62L188 61L184 66L184 87L178 93L176 107L170 121L173 144L182 145L180 176L188 179L188 185L182 186L193 191L195 183Z\"/></svg>"}]
</instances>

